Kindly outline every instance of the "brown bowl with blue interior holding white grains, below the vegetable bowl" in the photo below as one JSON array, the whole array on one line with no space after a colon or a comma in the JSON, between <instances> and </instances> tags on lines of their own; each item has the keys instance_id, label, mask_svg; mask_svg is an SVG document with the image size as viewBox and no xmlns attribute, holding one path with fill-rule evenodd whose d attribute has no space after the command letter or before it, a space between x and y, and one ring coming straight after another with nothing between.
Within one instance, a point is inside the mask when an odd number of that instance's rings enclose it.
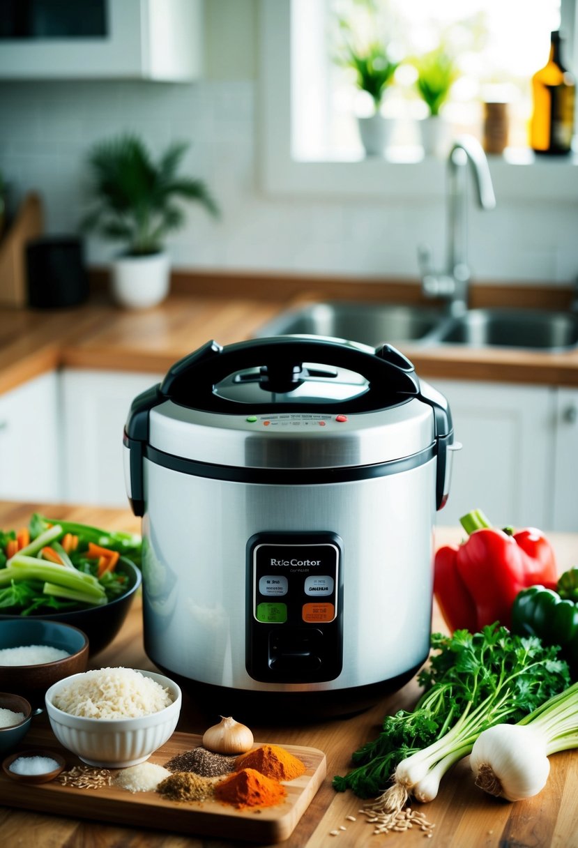
<instances>
[{"instance_id":1,"label":"brown bowl with blue interior holding white grains, below the vegetable bowl","mask_svg":"<svg viewBox=\"0 0 578 848\"><path fill-rule=\"evenodd\" d=\"M58 680L83 672L88 663L86 633L42 618L0 622L0 689L39 706Z\"/></svg>"}]
</instances>

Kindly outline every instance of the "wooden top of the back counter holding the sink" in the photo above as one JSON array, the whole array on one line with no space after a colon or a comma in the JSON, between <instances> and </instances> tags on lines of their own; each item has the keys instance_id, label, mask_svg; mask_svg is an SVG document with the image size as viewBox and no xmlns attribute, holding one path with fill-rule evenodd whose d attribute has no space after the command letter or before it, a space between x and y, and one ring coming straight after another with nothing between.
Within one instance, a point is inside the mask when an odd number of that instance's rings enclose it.
<instances>
[{"instance_id":1,"label":"wooden top of the back counter holding the sink","mask_svg":"<svg viewBox=\"0 0 578 848\"><path fill-rule=\"evenodd\" d=\"M360 295L361 296L361 295ZM258 297L252 289L174 293L150 310L126 311L103 293L69 310L0 310L0 393L64 366L164 374L209 339L249 338L281 310L303 299L292 293ZM578 349L540 353L412 345L403 352L427 378L525 382L578 387Z\"/></svg>"}]
</instances>

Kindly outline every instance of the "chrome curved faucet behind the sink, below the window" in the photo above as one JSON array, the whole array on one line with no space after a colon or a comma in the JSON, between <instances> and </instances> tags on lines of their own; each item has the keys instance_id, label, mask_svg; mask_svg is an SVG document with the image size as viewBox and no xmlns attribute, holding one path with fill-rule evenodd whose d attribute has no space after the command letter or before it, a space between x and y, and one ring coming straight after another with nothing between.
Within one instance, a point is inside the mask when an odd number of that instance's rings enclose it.
<instances>
[{"instance_id":1,"label":"chrome curved faucet behind the sink, below the window","mask_svg":"<svg viewBox=\"0 0 578 848\"><path fill-rule=\"evenodd\" d=\"M480 142L462 136L453 142L447 158L447 266L445 271L431 268L431 249L418 248L421 290L430 298L445 298L452 315L468 309L470 266L468 265L467 165L474 175L478 204L494 209L496 198L492 176Z\"/></svg>"}]
</instances>

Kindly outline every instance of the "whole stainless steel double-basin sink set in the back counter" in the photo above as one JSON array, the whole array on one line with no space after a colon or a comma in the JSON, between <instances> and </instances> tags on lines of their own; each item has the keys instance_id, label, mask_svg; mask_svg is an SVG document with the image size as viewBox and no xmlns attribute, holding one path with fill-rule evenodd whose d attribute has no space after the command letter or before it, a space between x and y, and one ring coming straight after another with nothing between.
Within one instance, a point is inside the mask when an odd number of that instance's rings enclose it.
<instances>
[{"instance_id":1,"label":"whole stainless steel double-basin sink set in the back counter","mask_svg":"<svg viewBox=\"0 0 578 848\"><path fill-rule=\"evenodd\" d=\"M578 313L476 309L452 316L433 306L335 301L281 312L256 335L331 336L371 347L389 342L558 353L578 346Z\"/></svg>"}]
</instances>

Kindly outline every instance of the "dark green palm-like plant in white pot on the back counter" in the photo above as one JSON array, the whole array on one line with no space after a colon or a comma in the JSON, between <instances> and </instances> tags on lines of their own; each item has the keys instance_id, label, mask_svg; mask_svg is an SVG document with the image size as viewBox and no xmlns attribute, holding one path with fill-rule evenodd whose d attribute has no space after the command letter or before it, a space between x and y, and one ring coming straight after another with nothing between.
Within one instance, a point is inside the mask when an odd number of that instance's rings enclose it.
<instances>
[{"instance_id":1,"label":"dark green palm-like plant in white pot on the back counter","mask_svg":"<svg viewBox=\"0 0 578 848\"><path fill-rule=\"evenodd\" d=\"M169 293L164 239L184 224L178 201L196 201L218 214L203 181L178 175L187 148L174 142L155 161L138 137L124 135L98 142L89 153L93 203L81 226L125 244L112 264L114 298L123 306L153 306Z\"/></svg>"}]
</instances>

